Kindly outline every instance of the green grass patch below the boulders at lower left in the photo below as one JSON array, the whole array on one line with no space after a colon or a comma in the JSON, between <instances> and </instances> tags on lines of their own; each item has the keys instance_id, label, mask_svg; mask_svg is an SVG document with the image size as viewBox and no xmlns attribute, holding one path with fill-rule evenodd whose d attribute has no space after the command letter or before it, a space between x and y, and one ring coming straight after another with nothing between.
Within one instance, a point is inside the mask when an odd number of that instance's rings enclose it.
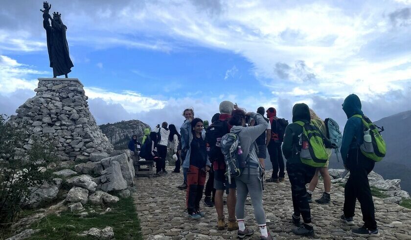
<instances>
[{"instance_id":1,"label":"green grass patch below the boulders at lower left","mask_svg":"<svg viewBox=\"0 0 411 240\"><path fill-rule=\"evenodd\" d=\"M89 207L89 205L85 206L86 209ZM104 215L89 213L89 216L84 218L79 218L69 212L61 213L60 216L55 214L46 216L31 226L33 229L40 229L40 232L32 235L30 239L89 239L80 238L77 234L92 227L102 229L107 226L113 227L115 239L142 239L132 197L120 198L120 201L110 207L112 211Z\"/></svg>"}]
</instances>

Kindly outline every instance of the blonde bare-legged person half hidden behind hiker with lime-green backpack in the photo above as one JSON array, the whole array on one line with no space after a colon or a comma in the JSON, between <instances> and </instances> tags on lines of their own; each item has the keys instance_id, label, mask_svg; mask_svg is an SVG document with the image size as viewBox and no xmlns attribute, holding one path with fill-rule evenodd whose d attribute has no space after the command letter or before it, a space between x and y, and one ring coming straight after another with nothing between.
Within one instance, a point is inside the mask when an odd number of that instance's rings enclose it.
<instances>
[{"instance_id":1,"label":"blonde bare-legged person half hidden behind hiker with lime-green backpack","mask_svg":"<svg viewBox=\"0 0 411 240\"><path fill-rule=\"evenodd\" d=\"M314 112L313 109L310 108L310 117L311 117L311 123L313 125L315 125L316 127L318 127L318 129L320 129L320 131L322 132L322 134L324 136L327 135L327 128L325 126L324 120L320 119L319 116L317 116L317 114ZM328 159L330 159L331 157L331 149L330 148L326 148L327 154L328 154ZM330 174L328 174L328 161L325 164L324 167L322 168L317 168L316 169L316 173L314 174L313 179L311 179L310 182L310 186L308 187L308 202L312 202L311 198L312 198L312 194L315 190L315 188L317 187L318 184L318 174L321 174L323 181L324 181L324 192L322 193L322 196L320 197L320 199L316 199L317 203L320 204L327 204L330 203L331 198L330 198L330 192L331 192L331 178L330 178Z\"/></svg>"}]
</instances>

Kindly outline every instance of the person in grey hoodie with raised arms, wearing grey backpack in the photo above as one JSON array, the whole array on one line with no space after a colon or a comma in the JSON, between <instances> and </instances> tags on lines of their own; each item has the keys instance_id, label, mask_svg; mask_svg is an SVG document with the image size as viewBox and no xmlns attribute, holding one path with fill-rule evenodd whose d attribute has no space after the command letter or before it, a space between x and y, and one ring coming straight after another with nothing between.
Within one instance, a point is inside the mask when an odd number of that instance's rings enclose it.
<instances>
[{"instance_id":1,"label":"person in grey hoodie with raised arms, wearing grey backpack","mask_svg":"<svg viewBox=\"0 0 411 240\"><path fill-rule=\"evenodd\" d=\"M245 126L246 116L251 117L257 125ZM254 231L245 227L244 208L247 195L250 193L254 216L261 232L261 240L272 240L267 229L266 216L263 209L264 160L257 157L258 146L255 140L267 129L267 121L257 113L245 113L241 109L232 111L228 122L232 125L229 134L221 139L221 150L227 164L227 175L234 176L237 186L237 203L235 216L238 221L237 236L240 239L253 235ZM252 125L252 123L251 123ZM232 141L234 140L234 141ZM231 141L233 144L228 144Z\"/></svg>"}]
</instances>

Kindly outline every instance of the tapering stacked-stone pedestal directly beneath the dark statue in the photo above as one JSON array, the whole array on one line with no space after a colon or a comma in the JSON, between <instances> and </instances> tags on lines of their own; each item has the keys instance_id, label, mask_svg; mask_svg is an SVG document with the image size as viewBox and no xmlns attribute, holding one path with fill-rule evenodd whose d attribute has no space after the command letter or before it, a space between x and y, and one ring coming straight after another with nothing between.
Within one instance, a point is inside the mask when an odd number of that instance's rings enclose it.
<instances>
[{"instance_id":1,"label":"tapering stacked-stone pedestal directly beneath the dark statue","mask_svg":"<svg viewBox=\"0 0 411 240\"><path fill-rule=\"evenodd\" d=\"M113 148L91 115L88 97L77 78L39 78L36 96L27 99L10 121L28 135L23 151L34 138L49 138L62 161L87 162L93 152ZM23 124L25 122L26 125Z\"/></svg>"}]
</instances>

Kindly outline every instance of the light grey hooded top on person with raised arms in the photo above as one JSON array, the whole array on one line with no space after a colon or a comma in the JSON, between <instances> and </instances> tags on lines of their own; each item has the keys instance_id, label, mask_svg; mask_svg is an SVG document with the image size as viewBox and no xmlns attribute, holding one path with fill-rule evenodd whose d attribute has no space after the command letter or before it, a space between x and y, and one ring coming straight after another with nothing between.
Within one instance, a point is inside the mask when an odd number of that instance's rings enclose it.
<instances>
[{"instance_id":1,"label":"light grey hooded top on person with raised arms","mask_svg":"<svg viewBox=\"0 0 411 240\"><path fill-rule=\"evenodd\" d=\"M256 164L260 164L258 161L257 153L255 152L254 141L265 132L267 129L268 123L264 120L263 116L257 113L251 113L251 118L257 123L256 126L243 127L243 126L233 126L230 130L230 133L237 134L241 144L241 150L243 154L240 155L243 161L246 161L248 153L250 152L250 159L248 161ZM249 169L249 170L247 170ZM260 174L260 169L258 167L250 166L250 168L245 168L244 174Z\"/></svg>"}]
</instances>

